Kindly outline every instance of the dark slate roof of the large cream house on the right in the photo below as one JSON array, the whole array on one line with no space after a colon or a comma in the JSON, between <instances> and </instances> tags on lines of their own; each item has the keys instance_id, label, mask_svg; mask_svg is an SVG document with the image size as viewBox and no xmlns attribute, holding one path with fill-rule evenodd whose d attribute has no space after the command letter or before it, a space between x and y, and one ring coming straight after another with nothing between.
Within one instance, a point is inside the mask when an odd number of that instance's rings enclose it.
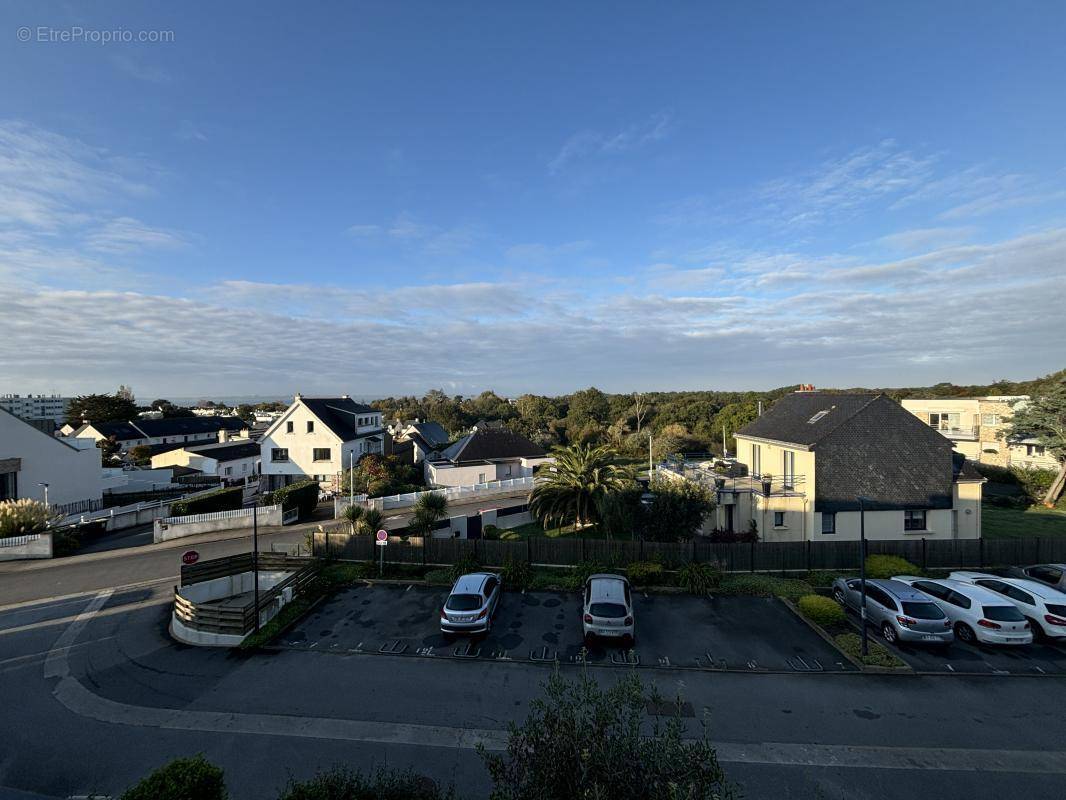
<instances>
[{"instance_id":1,"label":"dark slate roof of the large cream house on the right","mask_svg":"<svg viewBox=\"0 0 1066 800\"><path fill-rule=\"evenodd\" d=\"M814 511L952 508L951 442L885 395L786 395L737 435L813 450Z\"/></svg>"}]
</instances>

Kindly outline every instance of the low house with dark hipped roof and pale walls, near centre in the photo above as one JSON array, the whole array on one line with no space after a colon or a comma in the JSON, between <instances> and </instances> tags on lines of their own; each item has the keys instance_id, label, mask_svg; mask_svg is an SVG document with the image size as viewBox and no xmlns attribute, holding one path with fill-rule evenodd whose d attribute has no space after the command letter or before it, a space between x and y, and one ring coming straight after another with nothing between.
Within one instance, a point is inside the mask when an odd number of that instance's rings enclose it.
<instances>
[{"instance_id":1,"label":"low house with dark hipped roof and pale walls, near centre","mask_svg":"<svg viewBox=\"0 0 1066 800\"><path fill-rule=\"evenodd\" d=\"M554 459L545 449L501 425L479 422L454 445L430 454L425 482L432 486L528 478L540 464Z\"/></svg>"}]
</instances>

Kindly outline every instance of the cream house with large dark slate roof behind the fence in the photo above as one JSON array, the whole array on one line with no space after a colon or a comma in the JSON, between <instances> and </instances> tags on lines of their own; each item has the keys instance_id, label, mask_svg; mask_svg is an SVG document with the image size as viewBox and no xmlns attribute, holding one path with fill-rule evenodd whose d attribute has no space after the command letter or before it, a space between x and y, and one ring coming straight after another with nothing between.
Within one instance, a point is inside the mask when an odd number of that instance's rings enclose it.
<instances>
[{"instance_id":1,"label":"cream house with large dark slate roof behind the fence","mask_svg":"<svg viewBox=\"0 0 1066 800\"><path fill-rule=\"evenodd\" d=\"M736 434L739 471L711 474L713 526L765 542L976 539L984 479L885 395L797 391Z\"/></svg>"}]
</instances>

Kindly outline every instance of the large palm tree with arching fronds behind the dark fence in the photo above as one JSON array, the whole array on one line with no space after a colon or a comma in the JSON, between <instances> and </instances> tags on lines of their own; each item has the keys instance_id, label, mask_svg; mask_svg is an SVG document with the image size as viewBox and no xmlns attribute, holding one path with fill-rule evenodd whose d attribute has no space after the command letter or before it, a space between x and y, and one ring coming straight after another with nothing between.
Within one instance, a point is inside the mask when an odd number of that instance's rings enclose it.
<instances>
[{"instance_id":1,"label":"large palm tree with arching fronds behind the dark fence","mask_svg":"<svg viewBox=\"0 0 1066 800\"><path fill-rule=\"evenodd\" d=\"M559 527L574 521L577 527L599 518L598 507L607 495L633 486L633 474L615 463L610 447L570 445L555 448L555 463L540 470L530 494L530 511L544 525Z\"/></svg>"}]
</instances>

